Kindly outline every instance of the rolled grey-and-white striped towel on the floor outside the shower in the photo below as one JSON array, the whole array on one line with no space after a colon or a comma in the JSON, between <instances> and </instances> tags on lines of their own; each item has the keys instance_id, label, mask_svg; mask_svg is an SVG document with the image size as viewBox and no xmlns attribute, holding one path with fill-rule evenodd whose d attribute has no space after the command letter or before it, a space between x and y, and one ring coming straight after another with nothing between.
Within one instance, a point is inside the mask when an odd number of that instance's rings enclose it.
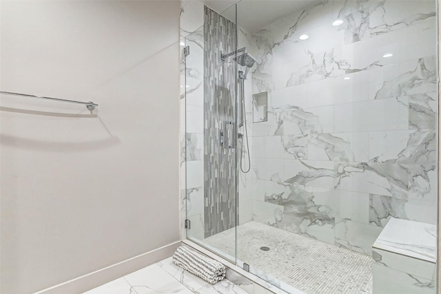
<instances>
[{"instance_id":1,"label":"rolled grey-and-white striped towel on the floor outside the shower","mask_svg":"<svg viewBox=\"0 0 441 294\"><path fill-rule=\"evenodd\" d=\"M227 269L220 262L207 258L187 247L180 246L173 255L173 262L177 266L201 277L203 280L216 284L225 278Z\"/></svg>"}]
</instances>

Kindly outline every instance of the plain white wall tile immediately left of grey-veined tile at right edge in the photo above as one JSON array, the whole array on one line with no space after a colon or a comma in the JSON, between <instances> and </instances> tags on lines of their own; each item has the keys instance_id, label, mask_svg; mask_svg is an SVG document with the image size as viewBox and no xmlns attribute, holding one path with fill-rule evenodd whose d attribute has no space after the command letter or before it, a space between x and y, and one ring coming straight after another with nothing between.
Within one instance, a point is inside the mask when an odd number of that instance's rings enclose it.
<instances>
[{"instance_id":1,"label":"plain white wall tile immediately left of grey-veined tile at right edge","mask_svg":"<svg viewBox=\"0 0 441 294\"><path fill-rule=\"evenodd\" d=\"M335 105L335 132L374 132L407 129L409 98L384 98Z\"/></svg>"}]
</instances>

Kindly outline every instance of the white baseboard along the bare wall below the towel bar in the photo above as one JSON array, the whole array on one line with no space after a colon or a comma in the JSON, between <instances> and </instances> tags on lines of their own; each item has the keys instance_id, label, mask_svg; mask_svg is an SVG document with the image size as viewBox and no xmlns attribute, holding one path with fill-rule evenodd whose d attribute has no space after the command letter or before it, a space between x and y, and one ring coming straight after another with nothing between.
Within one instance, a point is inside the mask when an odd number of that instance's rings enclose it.
<instances>
[{"instance_id":1,"label":"white baseboard along the bare wall below the towel bar","mask_svg":"<svg viewBox=\"0 0 441 294\"><path fill-rule=\"evenodd\" d=\"M174 251L181 245L181 241L174 242L162 246L158 249L137 255L128 260L123 260L111 266L107 266L98 271L88 273L87 275L82 275L81 277L76 277L73 280L63 282L56 286L50 288L45 288L44 290L38 291L34 294L79 294L88 291L92 288L96 288L102 284L115 280L119 277L123 277L139 269L143 269L145 266L154 264L165 258L170 258Z\"/></svg>"}]
</instances>

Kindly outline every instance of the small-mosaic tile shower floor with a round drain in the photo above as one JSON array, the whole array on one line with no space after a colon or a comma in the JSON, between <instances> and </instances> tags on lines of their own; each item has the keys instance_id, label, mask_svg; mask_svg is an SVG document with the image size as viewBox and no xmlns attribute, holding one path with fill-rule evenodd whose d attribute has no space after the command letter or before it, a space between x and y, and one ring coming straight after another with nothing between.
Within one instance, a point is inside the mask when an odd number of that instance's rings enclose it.
<instances>
[{"instance_id":1,"label":"small-mosaic tile shower floor with a round drain","mask_svg":"<svg viewBox=\"0 0 441 294\"><path fill-rule=\"evenodd\" d=\"M235 236L233 228L203 242L234 256ZM372 293L369 255L254 221L237 227L237 243L238 260L307 294Z\"/></svg>"}]
</instances>

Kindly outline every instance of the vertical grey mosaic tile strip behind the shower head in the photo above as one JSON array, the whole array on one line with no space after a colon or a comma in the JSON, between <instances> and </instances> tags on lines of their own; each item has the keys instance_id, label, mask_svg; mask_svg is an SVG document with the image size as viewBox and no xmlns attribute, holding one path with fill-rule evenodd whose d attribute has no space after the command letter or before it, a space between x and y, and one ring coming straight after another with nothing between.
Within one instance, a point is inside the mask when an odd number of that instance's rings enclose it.
<instances>
[{"instance_id":1,"label":"vertical grey mosaic tile strip behind the shower head","mask_svg":"<svg viewBox=\"0 0 441 294\"><path fill-rule=\"evenodd\" d=\"M205 238L236 224L236 25L204 8Z\"/></svg>"}]
</instances>

